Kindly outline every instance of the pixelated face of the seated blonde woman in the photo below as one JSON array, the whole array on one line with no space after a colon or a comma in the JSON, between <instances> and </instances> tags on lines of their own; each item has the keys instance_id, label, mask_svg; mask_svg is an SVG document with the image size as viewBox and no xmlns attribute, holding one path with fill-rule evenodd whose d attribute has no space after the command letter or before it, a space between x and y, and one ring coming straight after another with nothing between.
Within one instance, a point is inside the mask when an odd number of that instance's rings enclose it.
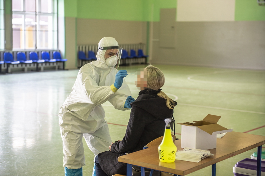
<instances>
[{"instance_id":1,"label":"pixelated face of the seated blonde woman","mask_svg":"<svg viewBox=\"0 0 265 176\"><path fill-rule=\"evenodd\" d=\"M145 68L138 68L135 73L135 86L139 90L145 90L147 88L148 75Z\"/></svg>"}]
</instances>

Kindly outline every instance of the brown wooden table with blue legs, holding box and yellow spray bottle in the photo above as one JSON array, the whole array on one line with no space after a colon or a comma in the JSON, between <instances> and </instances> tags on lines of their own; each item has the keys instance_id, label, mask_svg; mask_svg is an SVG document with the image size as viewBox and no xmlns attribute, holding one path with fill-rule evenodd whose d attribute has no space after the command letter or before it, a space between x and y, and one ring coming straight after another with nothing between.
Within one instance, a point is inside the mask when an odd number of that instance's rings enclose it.
<instances>
[{"instance_id":1,"label":"brown wooden table with blue legs, holding box and yellow spray bottle","mask_svg":"<svg viewBox=\"0 0 265 176\"><path fill-rule=\"evenodd\" d=\"M261 145L265 144L265 136L252 135L238 132L228 132L223 138L217 139L216 148L210 149L213 157L207 157L200 162L188 162L175 160L172 163L160 162L158 157L158 146L149 147L127 155L118 157L119 162L127 163L127 176L131 176L132 165L149 169L172 173L175 175L187 175L212 165L212 175L216 173L216 163L240 153L258 147L257 176L261 173ZM181 139L175 141L177 150L181 148Z\"/></svg>"}]
</instances>

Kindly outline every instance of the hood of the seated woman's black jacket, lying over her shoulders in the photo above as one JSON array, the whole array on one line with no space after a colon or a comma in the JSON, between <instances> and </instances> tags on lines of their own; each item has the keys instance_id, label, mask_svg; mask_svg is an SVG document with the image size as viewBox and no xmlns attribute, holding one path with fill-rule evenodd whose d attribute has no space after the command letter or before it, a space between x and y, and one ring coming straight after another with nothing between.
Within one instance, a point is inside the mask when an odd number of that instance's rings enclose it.
<instances>
[{"instance_id":1,"label":"hood of the seated woman's black jacket, lying over her shoulders","mask_svg":"<svg viewBox=\"0 0 265 176\"><path fill-rule=\"evenodd\" d=\"M137 106L159 119L172 118L174 110L167 107L164 98L157 96L159 91L152 89L140 91L138 98L131 103L131 106Z\"/></svg>"}]
</instances>

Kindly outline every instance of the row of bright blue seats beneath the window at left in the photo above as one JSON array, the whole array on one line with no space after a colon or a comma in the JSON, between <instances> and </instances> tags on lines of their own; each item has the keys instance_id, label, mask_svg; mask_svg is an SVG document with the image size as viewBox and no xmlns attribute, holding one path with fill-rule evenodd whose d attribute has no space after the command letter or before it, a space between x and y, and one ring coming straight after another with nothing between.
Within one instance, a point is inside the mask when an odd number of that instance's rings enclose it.
<instances>
[{"instance_id":1,"label":"row of bright blue seats beneath the window at left","mask_svg":"<svg viewBox=\"0 0 265 176\"><path fill-rule=\"evenodd\" d=\"M42 51L42 59L39 59L38 54L34 51L29 52L29 60L26 58L26 54L22 51L17 52L17 60L14 60L13 54L10 52L4 52L4 61L0 61L0 64L6 63L6 73L9 73L10 64L19 64L19 63L37 63L36 71L38 71L39 63L43 62L65 62L67 59L61 57L59 51L53 51L53 59L50 58L50 54L47 51ZM64 70L64 63L63 63ZM1 73L1 65L0 65Z\"/></svg>"}]
</instances>

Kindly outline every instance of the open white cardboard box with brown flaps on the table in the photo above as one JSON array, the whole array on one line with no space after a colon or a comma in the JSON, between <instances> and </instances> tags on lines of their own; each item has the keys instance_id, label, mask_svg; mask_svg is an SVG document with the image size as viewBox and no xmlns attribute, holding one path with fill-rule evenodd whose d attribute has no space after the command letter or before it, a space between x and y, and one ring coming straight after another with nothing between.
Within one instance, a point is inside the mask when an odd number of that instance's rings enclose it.
<instances>
[{"instance_id":1,"label":"open white cardboard box with brown flaps on the table","mask_svg":"<svg viewBox=\"0 0 265 176\"><path fill-rule=\"evenodd\" d=\"M208 114L203 120L181 125L181 148L189 147L201 150L216 148L216 135L233 131L218 125L221 116Z\"/></svg>"}]
</instances>

